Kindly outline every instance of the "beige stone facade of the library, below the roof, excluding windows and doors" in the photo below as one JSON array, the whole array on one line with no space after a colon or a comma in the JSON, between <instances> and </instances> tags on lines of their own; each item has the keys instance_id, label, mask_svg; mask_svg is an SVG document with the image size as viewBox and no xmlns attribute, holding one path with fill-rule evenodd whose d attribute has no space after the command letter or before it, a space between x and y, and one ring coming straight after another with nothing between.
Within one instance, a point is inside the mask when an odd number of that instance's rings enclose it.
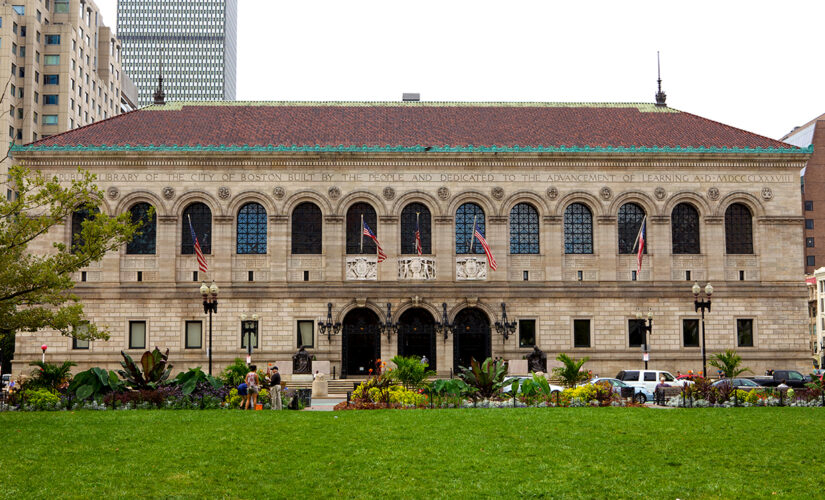
<instances>
[{"instance_id":1,"label":"beige stone facade of the library, below the roof, excluding windows and doors","mask_svg":"<svg viewBox=\"0 0 825 500\"><path fill-rule=\"evenodd\" d=\"M552 360L560 352L589 356L585 366L601 375L643 366L639 347L629 347L628 320L636 311L652 311L649 339L653 368L701 370L699 347L684 347L683 319L699 318L691 286L711 282L713 309L706 314L708 357L735 348L754 373L767 368L810 368L807 290L803 276L803 236L799 169L807 155L731 153L198 153L198 152L20 152L28 166L68 180L78 166L98 175L107 194L106 213L121 213L137 202L157 210L157 251L126 255L125 250L78 273L76 293L89 318L108 326L111 338L88 350L73 349L71 338L54 332L20 333L14 372L39 359L72 359L78 370L113 368L119 351L129 351L130 321L146 322L146 347L169 348L176 369L206 367L208 317L198 288L202 279L220 286L213 316L215 371L243 357L242 314L258 316L258 364L289 359L298 347L300 320L315 323L308 350L341 373L344 335L322 335L317 322L343 322L358 308L372 310L383 322L386 303L393 322L412 308L423 308L436 322L442 303L448 320L467 307L484 312L490 324L501 316L535 320L536 343ZM389 189L388 189L389 188ZM392 196L388 196L392 194ZM238 255L237 214L247 202L267 212L267 253ZM291 254L291 214L301 202L323 213L323 252ZM498 262L481 279L460 279L462 254L455 248L455 215L465 202L486 215L486 239ZM181 255L182 212L193 202L212 211L212 251L208 275L193 276L193 255ZM377 212L377 233L388 259L374 264L374 279L353 279L345 246L346 214L357 202ZM412 202L432 214L432 253L424 274L411 256L400 254L400 217ZM510 211L531 204L539 214L540 251L510 254ZM593 253L565 254L564 213L571 203L593 215ZM627 202L647 214L647 247L642 271L633 280L636 255L619 255L617 214ZM680 202L700 215L701 253L671 252L671 213ZM733 203L749 208L753 254L728 255L725 211ZM51 241L70 240L69 225L55 228L35 246L48 251ZM477 243L477 242L476 242ZM351 257L351 256L350 256ZM484 261L484 255L477 256ZM399 263L399 259L402 261ZM138 272L141 280L138 281ZM250 272L252 274L250 280ZM688 278L687 275L690 274ZM193 279L196 278L196 279ZM85 281L83 281L85 279ZM590 320L590 347L574 347L573 321ZM753 347L737 345L737 319L753 320ZM203 322L202 348L185 348L186 321ZM439 374L453 368L456 334L435 338ZM521 359L532 345L519 346L518 328L505 342L492 328L491 354ZM380 357L398 352L398 334L381 334Z\"/></svg>"}]
</instances>

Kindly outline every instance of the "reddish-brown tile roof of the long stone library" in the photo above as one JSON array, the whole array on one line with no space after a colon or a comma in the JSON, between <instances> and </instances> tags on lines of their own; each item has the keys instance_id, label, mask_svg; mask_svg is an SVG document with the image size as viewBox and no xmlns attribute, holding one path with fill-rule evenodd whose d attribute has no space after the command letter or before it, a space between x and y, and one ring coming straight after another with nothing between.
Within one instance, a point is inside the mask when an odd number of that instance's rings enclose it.
<instances>
[{"instance_id":1,"label":"reddish-brown tile roof of the long stone library","mask_svg":"<svg viewBox=\"0 0 825 500\"><path fill-rule=\"evenodd\" d=\"M767 148L793 146L652 104L168 103L20 149L79 146Z\"/></svg>"}]
</instances>

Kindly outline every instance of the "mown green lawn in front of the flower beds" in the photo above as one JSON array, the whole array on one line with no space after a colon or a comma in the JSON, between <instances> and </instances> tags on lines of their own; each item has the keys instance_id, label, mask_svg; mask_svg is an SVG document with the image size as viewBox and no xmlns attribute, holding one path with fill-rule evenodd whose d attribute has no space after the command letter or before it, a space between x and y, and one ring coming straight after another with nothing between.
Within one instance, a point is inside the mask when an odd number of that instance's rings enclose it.
<instances>
[{"instance_id":1,"label":"mown green lawn in front of the flower beds","mask_svg":"<svg viewBox=\"0 0 825 500\"><path fill-rule=\"evenodd\" d=\"M823 418L818 408L6 412L0 498L810 498L822 494Z\"/></svg>"}]
</instances>

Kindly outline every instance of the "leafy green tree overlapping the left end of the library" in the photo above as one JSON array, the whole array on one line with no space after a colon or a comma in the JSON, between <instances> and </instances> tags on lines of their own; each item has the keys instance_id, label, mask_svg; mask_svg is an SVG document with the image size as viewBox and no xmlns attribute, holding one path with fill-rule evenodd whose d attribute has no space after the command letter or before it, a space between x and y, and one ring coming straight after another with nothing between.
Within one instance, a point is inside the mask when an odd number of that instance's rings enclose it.
<instances>
[{"instance_id":1,"label":"leafy green tree overlapping the left end of the library","mask_svg":"<svg viewBox=\"0 0 825 500\"><path fill-rule=\"evenodd\" d=\"M128 212L99 213L103 192L94 182L93 174L80 169L70 184L21 166L9 170L3 184L17 196L0 199L0 335L51 328L81 339L108 338L105 329L84 319L83 305L71 293L72 273L131 241L140 223ZM84 210L89 217L71 247L56 241L42 255L29 250L33 241Z\"/></svg>"}]
</instances>

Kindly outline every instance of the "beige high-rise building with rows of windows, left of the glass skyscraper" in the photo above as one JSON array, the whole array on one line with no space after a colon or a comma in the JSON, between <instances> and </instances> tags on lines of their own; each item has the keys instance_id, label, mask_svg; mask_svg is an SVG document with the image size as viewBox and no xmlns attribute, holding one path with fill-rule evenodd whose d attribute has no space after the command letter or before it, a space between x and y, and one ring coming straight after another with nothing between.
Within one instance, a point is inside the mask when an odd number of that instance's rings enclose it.
<instances>
[{"instance_id":1,"label":"beige high-rise building with rows of windows, left of the glass skyscraper","mask_svg":"<svg viewBox=\"0 0 825 500\"><path fill-rule=\"evenodd\" d=\"M134 85L121 69L120 41L102 21L89 0L0 4L0 155L12 143L115 116L136 100L124 95ZM7 164L0 162L0 174Z\"/></svg>"}]
</instances>

